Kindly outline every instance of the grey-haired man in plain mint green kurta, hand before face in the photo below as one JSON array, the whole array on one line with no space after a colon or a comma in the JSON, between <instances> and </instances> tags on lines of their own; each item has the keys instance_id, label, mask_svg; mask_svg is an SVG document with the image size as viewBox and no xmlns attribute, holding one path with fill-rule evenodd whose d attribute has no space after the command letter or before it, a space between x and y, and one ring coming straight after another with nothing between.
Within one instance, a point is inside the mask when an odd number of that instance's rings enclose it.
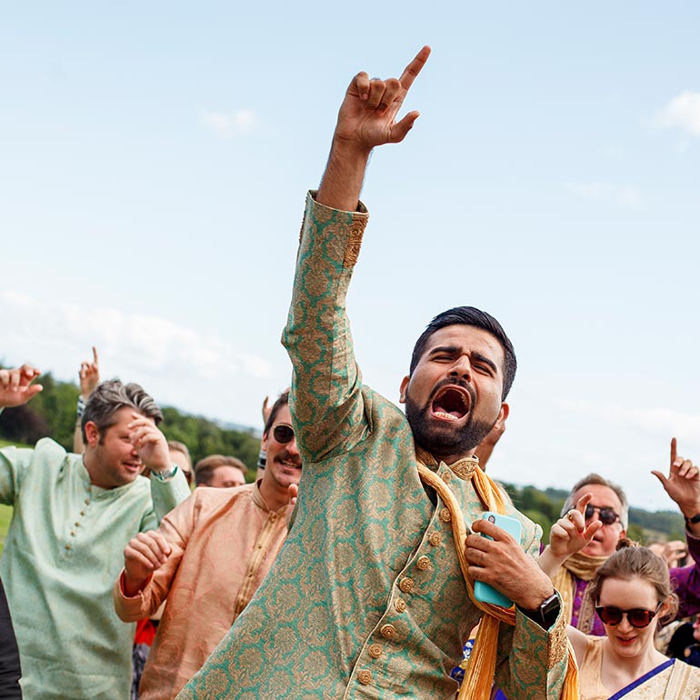
<instances>
[{"instance_id":1,"label":"grey-haired man in plain mint green kurta, hand before face","mask_svg":"<svg viewBox=\"0 0 700 700\"><path fill-rule=\"evenodd\" d=\"M34 370L15 373L26 391ZM0 406L23 403L20 392L0 384ZM115 615L112 585L129 539L189 495L184 475L168 478L159 416L137 385L105 382L85 408L85 455L49 438L0 449L0 501L14 506L0 576L25 700L129 697L135 625ZM143 465L162 478L149 484Z\"/></svg>"}]
</instances>

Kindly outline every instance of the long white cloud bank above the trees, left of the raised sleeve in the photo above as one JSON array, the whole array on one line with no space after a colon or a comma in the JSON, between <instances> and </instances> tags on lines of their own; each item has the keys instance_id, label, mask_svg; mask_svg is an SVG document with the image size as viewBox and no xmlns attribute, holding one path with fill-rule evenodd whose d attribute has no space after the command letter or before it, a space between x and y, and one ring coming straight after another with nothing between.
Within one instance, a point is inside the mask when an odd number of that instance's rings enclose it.
<instances>
[{"instance_id":1,"label":"long white cloud bank above the trees, left of the raised sleeve","mask_svg":"<svg viewBox=\"0 0 700 700\"><path fill-rule=\"evenodd\" d=\"M286 367L157 316L0 291L0 318L0 360L8 364L30 362L75 381L96 345L103 378L138 382L159 401L192 413L257 425L265 394L289 384Z\"/></svg>"}]
</instances>

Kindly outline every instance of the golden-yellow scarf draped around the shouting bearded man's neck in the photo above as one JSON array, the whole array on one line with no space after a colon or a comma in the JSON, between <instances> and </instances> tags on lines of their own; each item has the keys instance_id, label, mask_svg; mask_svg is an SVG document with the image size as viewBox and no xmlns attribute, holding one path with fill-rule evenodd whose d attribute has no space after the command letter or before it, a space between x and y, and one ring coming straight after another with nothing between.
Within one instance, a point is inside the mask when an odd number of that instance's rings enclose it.
<instances>
[{"instance_id":1,"label":"golden-yellow scarf draped around the shouting bearded man's neck","mask_svg":"<svg viewBox=\"0 0 700 700\"><path fill-rule=\"evenodd\" d=\"M466 559L464 547L466 538L465 516L457 503L455 495L445 485L445 482L426 466L426 464L436 465L435 458L432 455L427 455L423 450L418 451L417 457L418 474L421 480L435 489L452 514L452 531L455 537L459 565L462 568L462 575L465 577L466 592L472 603L485 614L479 624L474 649L469 657L469 663L465 670L465 680L462 682L457 700L488 700L491 695L491 686L494 683L498 624L500 621L508 625L515 625L515 607L505 608L475 600L474 582L467 573L469 562ZM453 471L461 478L471 478L475 485L476 494L488 510L505 515L505 499L498 486L479 466L477 458L460 460L454 467L456 468ZM561 700L578 700L578 665L576 665L574 649L571 643L568 642L568 639L566 646L568 666Z\"/></svg>"}]
</instances>

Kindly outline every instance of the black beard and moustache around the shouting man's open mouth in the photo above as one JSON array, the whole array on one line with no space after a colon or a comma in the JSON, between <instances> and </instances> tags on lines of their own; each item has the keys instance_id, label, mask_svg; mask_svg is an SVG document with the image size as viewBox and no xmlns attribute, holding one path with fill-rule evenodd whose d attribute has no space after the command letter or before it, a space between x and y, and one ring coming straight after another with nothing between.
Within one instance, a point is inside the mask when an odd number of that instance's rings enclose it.
<instances>
[{"instance_id":1,"label":"black beard and moustache around the shouting man's open mouth","mask_svg":"<svg viewBox=\"0 0 700 700\"><path fill-rule=\"evenodd\" d=\"M455 384L453 382L452 384ZM456 383L460 384L460 383ZM439 387L436 387L439 388ZM435 392L433 392L435 394ZM470 391L470 394L472 392ZM405 415L408 425L414 434L415 444L427 450L436 457L454 457L471 455L475 447L481 445L485 436L491 432L495 425L486 421L475 420L474 415L469 413L469 418L463 428L455 428L449 423L445 425L435 425L435 421L430 418L433 398L428 400L424 408L415 404L408 394L405 398ZM475 405L475 396L472 394L472 406Z\"/></svg>"}]
</instances>

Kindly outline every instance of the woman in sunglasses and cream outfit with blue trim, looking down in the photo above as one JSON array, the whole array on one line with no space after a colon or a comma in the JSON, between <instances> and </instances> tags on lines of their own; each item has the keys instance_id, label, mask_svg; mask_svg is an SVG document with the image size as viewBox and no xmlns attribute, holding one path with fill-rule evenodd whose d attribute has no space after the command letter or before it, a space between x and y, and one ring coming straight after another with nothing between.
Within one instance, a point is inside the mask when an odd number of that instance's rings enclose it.
<instances>
[{"instance_id":1,"label":"woman in sunglasses and cream outfit with blue trim, looking down","mask_svg":"<svg viewBox=\"0 0 700 700\"><path fill-rule=\"evenodd\" d=\"M603 637L569 626L581 700L697 700L700 669L656 651L661 620L678 605L665 562L623 539L591 583Z\"/></svg>"}]
</instances>

